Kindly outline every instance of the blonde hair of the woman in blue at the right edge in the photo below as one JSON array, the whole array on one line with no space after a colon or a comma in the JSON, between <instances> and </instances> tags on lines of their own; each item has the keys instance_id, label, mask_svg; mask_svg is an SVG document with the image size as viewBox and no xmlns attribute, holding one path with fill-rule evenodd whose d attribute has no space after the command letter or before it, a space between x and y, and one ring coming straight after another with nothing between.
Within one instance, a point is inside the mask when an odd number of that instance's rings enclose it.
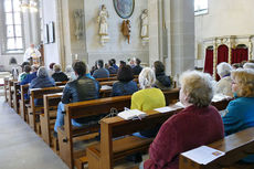
<instances>
[{"instance_id":1,"label":"blonde hair of the woman in blue at the right edge","mask_svg":"<svg viewBox=\"0 0 254 169\"><path fill-rule=\"evenodd\" d=\"M240 97L254 97L254 71L237 68L231 72L231 78L237 83Z\"/></svg>"}]
</instances>

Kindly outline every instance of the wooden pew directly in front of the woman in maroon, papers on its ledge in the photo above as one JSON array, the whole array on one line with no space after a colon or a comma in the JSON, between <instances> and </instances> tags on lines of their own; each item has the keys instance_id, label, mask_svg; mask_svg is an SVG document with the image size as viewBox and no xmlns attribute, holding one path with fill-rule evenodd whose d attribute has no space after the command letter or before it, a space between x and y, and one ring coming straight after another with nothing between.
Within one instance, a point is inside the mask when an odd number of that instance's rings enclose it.
<instances>
[{"instance_id":1,"label":"wooden pew directly in front of the woman in maroon, papers on its ledge","mask_svg":"<svg viewBox=\"0 0 254 169\"><path fill-rule=\"evenodd\" d=\"M225 105L223 105L225 108L229 101L223 103L225 103ZM146 112L148 116L141 120L124 120L120 117L103 119L100 123L100 142L89 146L86 149L88 167L93 169L113 169L114 161L125 158L134 152L148 150L149 145L152 141L150 138L141 139L135 136L124 137L116 140L113 138L130 135L138 130L162 124L179 110L180 109L163 114L157 113L156 110L149 110Z\"/></svg>"}]
</instances>

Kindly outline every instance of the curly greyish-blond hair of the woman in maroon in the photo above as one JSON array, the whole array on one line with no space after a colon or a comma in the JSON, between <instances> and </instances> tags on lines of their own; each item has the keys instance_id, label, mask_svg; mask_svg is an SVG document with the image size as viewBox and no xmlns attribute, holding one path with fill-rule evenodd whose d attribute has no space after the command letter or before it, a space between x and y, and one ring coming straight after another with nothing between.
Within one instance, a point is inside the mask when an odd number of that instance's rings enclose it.
<instances>
[{"instance_id":1,"label":"curly greyish-blond hair of the woman in maroon","mask_svg":"<svg viewBox=\"0 0 254 169\"><path fill-rule=\"evenodd\" d=\"M215 81L210 74L198 71L187 71L180 76L180 84L190 104L198 107L210 105L215 86Z\"/></svg>"}]
</instances>

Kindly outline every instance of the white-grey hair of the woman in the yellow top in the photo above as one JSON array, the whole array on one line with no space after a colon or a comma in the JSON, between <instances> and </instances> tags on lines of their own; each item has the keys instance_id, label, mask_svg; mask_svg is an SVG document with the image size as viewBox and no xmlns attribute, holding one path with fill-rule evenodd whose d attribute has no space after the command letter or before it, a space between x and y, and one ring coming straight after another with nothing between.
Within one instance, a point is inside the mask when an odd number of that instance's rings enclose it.
<instances>
[{"instance_id":1,"label":"white-grey hair of the woman in the yellow top","mask_svg":"<svg viewBox=\"0 0 254 169\"><path fill-rule=\"evenodd\" d=\"M139 74L138 81L142 89L151 87L156 83L156 74L150 67L145 67Z\"/></svg>"}]
</instances>

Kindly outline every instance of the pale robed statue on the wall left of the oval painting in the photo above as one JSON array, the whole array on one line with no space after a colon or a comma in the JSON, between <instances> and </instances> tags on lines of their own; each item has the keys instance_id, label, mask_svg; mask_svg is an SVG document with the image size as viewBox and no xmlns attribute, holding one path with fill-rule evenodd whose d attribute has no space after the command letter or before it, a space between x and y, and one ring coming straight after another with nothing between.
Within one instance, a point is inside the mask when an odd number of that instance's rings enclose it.
<instances>
[{"instance_id":1,"label":"pale robed statue on the wall left of the oval painting","mask_svg":"<svg viewBox=\"0 0 254 169\"><path fill-rule=\"evenodd\" d=\"M108 36L108 25L107 25L107 18L109 18L108 11L106 6L102 6L102 10L99 11L97 22L99 23L99 31L98 34L100 35L100 42L104 45L104 42L109 40Z\"/></svg>"}]
</instances>

